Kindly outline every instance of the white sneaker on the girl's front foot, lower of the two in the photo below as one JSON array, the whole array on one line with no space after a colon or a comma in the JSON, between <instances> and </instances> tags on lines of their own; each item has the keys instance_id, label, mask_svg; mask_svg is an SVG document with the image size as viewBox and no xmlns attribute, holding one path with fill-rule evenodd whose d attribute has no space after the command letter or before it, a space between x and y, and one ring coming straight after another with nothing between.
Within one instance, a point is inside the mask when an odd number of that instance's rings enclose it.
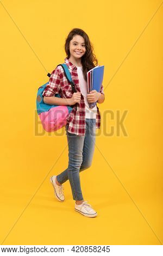
<instances>
[{"instance_id":1,"label":"white sneaker on the girl's front foot, lower of the two","mask_svg":"<svg viewBox=\"0 0 163 256\"><path fill-rule=\"evenodd\" d=\"M83 214L86 217L96 217L97 212L91 208L90 204L87 204L88 201L84 201L82 204L77 205L75 203L75 210L80 212L80 214Z\"/></svg>"}]
</instances>

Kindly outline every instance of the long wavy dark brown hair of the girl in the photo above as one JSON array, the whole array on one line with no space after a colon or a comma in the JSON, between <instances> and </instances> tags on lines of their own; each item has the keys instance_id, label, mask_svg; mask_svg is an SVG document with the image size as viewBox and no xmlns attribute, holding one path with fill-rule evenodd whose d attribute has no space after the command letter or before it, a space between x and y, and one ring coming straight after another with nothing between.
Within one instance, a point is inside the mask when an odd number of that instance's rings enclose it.
<instances>
[{"instance_id":1,"label":"long wavy dark brown hair of the girl","mask_svg":"<svg viewBox=\"0 0 163 256\"><path fill-rule=\"evenodd\" d=\"M93 53L93 46L90 42L89 36L80 28L73 28L70 33L68 34L65 42L65 52L67 54L67 58L70 58L70 41L73 39L74 35L80 35L83 36L85 41L85 54L82 56L82 66L83 66L83 76L85 78L85 81L87 81L86 73L90 69L95 68L95 66L98 65L98 60Z\"/></svg>"}]
</instances>

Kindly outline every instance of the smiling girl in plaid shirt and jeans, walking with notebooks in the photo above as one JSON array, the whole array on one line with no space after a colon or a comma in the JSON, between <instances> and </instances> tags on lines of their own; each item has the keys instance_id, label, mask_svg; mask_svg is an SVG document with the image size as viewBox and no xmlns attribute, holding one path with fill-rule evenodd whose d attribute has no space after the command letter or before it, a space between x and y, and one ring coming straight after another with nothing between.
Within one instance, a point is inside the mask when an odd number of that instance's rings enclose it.
<instances>
[{"instance_id":1,"label":"smiling girl in plaid shirt and jeans, walking with notebooks","mask_svg":"<svg viewBox=\"0 0 163 256\"><path fill-rule=\"evenodd\" d=\"M65 126L68 142L68 168L59 175L53 175L50 180L55 197L60 202L65 200L62 184L69 180L73 200L76 201L74 210L86 217L95 217L97 212L83 198L79 173L91 166L95 150L95 131L96 128L99 129L101 123L97 105L91 109L89 102L103 103L105 96L103 86L100 92L92 90L90 94L87 94L86 74L87 71L97 66L97 59L93 54L89 36L82 29L74 28L68 34L65 52L67 55L65 63L70 70L77 92L73 93L64 70L61 66L57 66L42 94L43 101L47 104L74 105ZM54 97L55 93L59 93L61 98Z\"/></svg>"}]
</instances>

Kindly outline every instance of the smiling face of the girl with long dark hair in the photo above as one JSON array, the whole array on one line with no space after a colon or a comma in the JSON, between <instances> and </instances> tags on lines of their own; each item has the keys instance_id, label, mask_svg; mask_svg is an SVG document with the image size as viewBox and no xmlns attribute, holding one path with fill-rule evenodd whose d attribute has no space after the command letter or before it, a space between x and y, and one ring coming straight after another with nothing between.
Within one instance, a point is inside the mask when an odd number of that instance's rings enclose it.
<instances>
[{"instance_id":1,"label":"smiling face of the girl with long dark hair","mask_svg":"<svg viewBox=\"0 0 163 256\"><path fill-rule=\"evenodd\" d=\"M85 54L85 42L84 38L80 35L74 35L73 39L70 41L70 55L73 58L79 59Z\"/></svg>"}]
</instances>

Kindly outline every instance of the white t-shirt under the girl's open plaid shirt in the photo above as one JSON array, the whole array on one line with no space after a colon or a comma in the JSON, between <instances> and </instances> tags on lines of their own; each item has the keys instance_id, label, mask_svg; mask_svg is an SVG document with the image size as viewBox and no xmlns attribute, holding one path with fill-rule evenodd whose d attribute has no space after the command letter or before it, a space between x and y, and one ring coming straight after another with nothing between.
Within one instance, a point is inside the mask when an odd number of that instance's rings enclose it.
<instances>
[{"instance_id":1,"label":"white t-shirt under the girl's open plaid shirt","mask_svg":"<svg viewBox=\"0 0 163 256\"><path fill-rule=\"evenodd\" d=\"M89 108L89 103L87 101L87 82L84 80L83 76L83 66L77 66L78 78L79 78L79 87L80 91L84 97L85 102L85 118L96 119L97 106Z\"/></svg>"}]
</instances>

